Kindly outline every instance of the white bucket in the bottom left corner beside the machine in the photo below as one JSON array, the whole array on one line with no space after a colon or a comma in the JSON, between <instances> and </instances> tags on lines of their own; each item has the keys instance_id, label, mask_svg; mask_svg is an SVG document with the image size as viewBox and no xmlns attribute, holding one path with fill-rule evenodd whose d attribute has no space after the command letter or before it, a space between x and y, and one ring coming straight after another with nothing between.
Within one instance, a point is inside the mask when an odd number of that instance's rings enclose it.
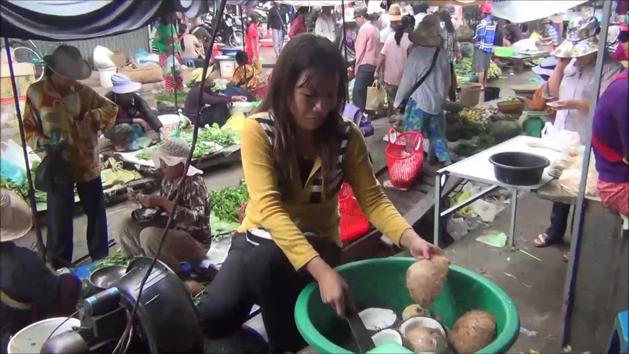
<instances>
[{"instance_id":1,"label":"white bucket in the bottom left corner beside the machine","mask_svg":"<svg viewBox=\"0 0 629 354\"><path fill-rule=\"evenodd\" d=\"M11 338L9 345L6 347L7 353L39 353L42 350L43 343L48 340L48 336L50 336L52 331L55 331L55 328L57 328L59 324L65 321L65 318L66 317L54 317L44 319L30 326L26 326ZM78 326L81 326L81 321L70 318L57 328L53 336Z\"/></svg>"}]
</instances>

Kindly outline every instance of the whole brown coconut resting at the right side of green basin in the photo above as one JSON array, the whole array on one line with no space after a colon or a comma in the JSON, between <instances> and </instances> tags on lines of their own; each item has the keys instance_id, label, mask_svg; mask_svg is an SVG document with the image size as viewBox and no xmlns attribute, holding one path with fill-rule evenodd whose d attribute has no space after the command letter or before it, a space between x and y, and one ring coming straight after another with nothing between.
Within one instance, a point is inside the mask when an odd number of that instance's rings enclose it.
<instances>
[{"instance_id":1,"label":"whole brown coconut resting at the right side of green basin","mask_svg":"<svg viewBox=\"0 0 629 354\"><path fill-rule=\"evenodd\" d=\"M496 336L496 317L487 311L465 312L454 323L448 336L457 353L475 353L489 345Z\"/></svg>"}]
</instances>

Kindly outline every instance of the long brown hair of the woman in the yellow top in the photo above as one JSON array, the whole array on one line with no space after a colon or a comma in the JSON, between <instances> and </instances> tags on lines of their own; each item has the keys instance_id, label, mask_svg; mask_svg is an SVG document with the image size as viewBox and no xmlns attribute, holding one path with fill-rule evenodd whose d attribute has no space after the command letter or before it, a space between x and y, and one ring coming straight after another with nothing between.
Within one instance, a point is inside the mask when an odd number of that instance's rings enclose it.
<instances>
[{"instance_id":1,"label":"long brown hair of the woman in the yellow top","mask_svg":"<svg viewBox=\"0 0 629 354\"><path fill-rule=\"evenodd\" d=\"M292 178L297 178L294 175L295 171L291 171L292 163L289 162L297 158L298 144L296 125L290 106L298 84L304 86L308 83L308 77L303 83L298 83L300 74L307 69L315 69L321 75L338 78L337 105L315 132L315 143L321 152L321 178L323 180L321 196L323 200L326 200L334 193L329 190L328 184L331 171L338 164L340 141L345 124L347 124L343 123L341 118L347 101L347 69L343 63L343 57L334 43L312 33L302 33L290 40L277 57L267 96L257 111L269 111L275 120L273 159L279 172L278 181L282 197L287 197L286 193L289 193L286 183Z\"/></svg>"}]
</instances>

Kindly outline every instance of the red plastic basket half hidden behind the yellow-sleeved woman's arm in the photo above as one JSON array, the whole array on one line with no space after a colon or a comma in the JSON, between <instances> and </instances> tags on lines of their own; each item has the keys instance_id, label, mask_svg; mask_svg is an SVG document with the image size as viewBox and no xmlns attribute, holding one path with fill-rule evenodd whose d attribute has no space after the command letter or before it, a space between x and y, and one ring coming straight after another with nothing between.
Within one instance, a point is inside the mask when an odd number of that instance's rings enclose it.
<instances>
[{"instance_id":1,"label":"red plastic basket half hidden behind the yellow-sleeved woman's arm","mask_svg":"<svg viewBox=\"0 0 629 354\"><path fill-rule=\"evenodd\" d=\"M352 187L345 182L338 193L338 212L341 214L341 241L350 241L369 231L369 220L360 210Z\"/></svg>"}]
</instances>

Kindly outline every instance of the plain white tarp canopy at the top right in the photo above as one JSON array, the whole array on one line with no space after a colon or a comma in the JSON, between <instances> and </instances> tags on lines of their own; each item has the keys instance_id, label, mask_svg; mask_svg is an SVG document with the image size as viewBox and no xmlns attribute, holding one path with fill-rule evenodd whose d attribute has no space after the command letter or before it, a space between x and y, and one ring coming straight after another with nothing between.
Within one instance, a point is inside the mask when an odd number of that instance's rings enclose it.
<instances>
[{"instance_id":1,"label":"plain white tarp canopy at the top right","mask_svg":"<svg viewBox=\"0 0 629 354\"><path fill-rule=\"evenodd\" d=\"M513 23L523 23L540 20L540 18L565 12L568 9L586 2L587 1L584 0L555 0L543 2L537 0L494 1L491 14ZM540 6L540 4L542 6Z\"/></svg>"}]
</instances>

